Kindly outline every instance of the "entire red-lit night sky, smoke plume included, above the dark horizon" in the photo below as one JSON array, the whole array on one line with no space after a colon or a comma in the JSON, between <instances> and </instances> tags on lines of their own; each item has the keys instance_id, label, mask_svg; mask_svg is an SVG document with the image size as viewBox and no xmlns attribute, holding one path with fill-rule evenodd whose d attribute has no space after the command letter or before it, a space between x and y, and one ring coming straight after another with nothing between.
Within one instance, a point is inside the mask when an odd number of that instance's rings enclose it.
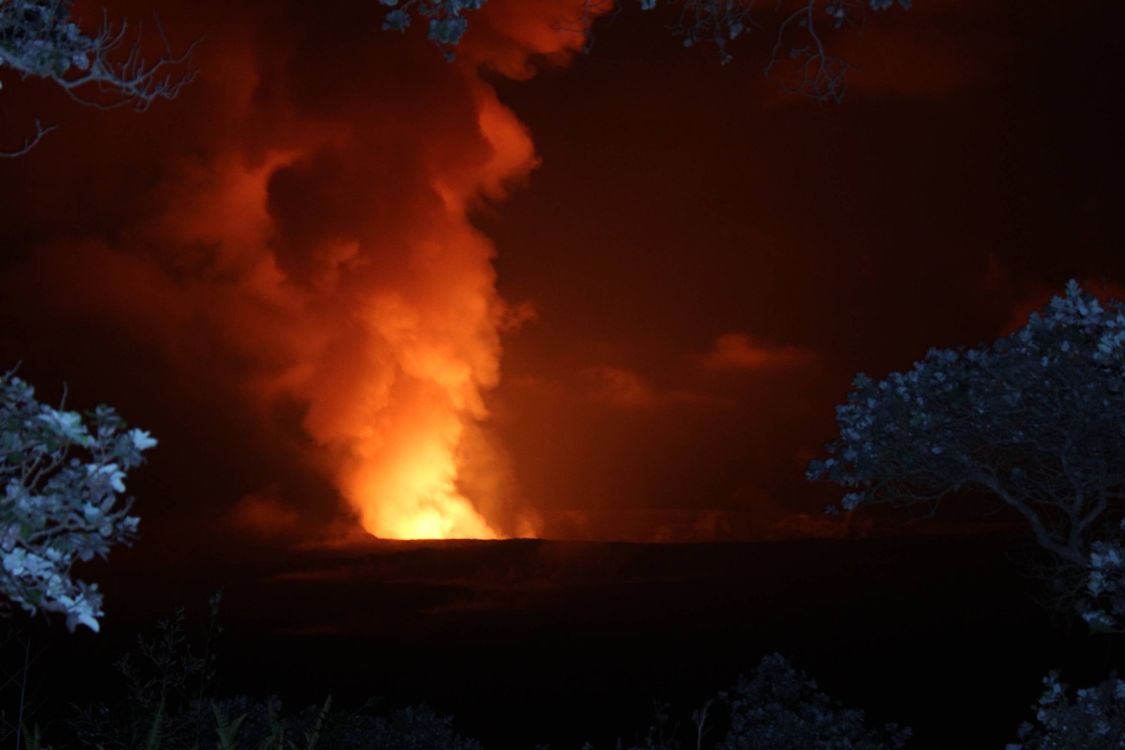
<instances>
[{"instance_id":1,"label":"entire red-lit night sky, smoke plume included, above the dark horizon","mask_svg":"<svg viewBox=\"0 0 1125 750\"><path fill-rule=\"evenodd\" d=\"M579 4L449 64L374 0L115 2L206 35L143 114L0 71L0 143L58 125L0 162L0 364L161 441L142 537L801 525L855 372L1122 296L1120 3L873 12L822 106L771 11L721 66L630 3L573 56Z\"/></svg>"}]
</instances>

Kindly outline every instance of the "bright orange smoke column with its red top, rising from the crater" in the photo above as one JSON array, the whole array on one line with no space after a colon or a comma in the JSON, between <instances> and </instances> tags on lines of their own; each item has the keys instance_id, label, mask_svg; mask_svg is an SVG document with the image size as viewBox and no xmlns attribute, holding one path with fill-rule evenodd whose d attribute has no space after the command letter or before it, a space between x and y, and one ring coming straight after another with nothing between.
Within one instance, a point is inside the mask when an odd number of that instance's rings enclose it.
<instances>
[{"instance_id":1,"label":"bright orange smoke column with its red top, rising from the crater","mask_svg":"<svg viewBox=\"0 0 1125 750\"><path fill-rule=\"evenodd\" d=\"M500 539L536 526L512 498L488 496L504 482L479 480L503 473L476 426L488 417L484 394L500 381L501 331L526 314L500 298L495 249L469 214L505 198L539 163L526 127L479 71L525 76L531 55L562 62L582 45L555 24L575 16L574 0L520 13L525 3L498 4L493 33L438 69L456 81L447 111L420 110L421 120L392 130L394 141L364 134L375 148L371 180L382 179L392 155L416 155L403 162L412 173L400 183L417 189L377 193L410 222L390 228L397 216L384 214L379 226L360 227L353 251L316 251L331 265L322 273L331 280L330 325L288 387L309 405L305 428L332 449L341 494L362 527L384 539ZM484 17L478 28L488 28ZM466 469L471 486L459 481Z\"/></svg>"}]
</instances>

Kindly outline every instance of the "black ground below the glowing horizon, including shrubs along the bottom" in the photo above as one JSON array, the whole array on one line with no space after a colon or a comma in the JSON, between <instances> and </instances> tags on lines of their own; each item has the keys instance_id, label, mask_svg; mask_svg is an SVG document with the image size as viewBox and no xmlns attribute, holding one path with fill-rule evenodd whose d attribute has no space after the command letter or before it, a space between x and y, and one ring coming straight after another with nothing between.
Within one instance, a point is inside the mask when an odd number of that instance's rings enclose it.
<instances>
[{"instance_id":1,"label":"black ground below the glowing horizon, including shrubs along the bottom","mask_svg":"<svg viewBox=\"0 0 1125 750\"><path fill-rule=\"evenodd\" d=\"M123 559L110 568L145 577L107 580L117 607L101 632L8 618L0 748L1120 747L1117 636L1052 622L1001 549L412 543L290 559L334 571L312 582L266 562L233 580L200 564L184 582ZM374 572L346 584L344 559ZM532 579L544 594L489 609L496 578L504 596ZM162 581L202 602L204 579L230 581L222 613L215 598L158 618L172 594L125 595ZM407 589L422 599L395 598ZM399 621L360 634L346 617L364 607ZM1040 684L1056 668L1073 687Z\"/></svg>"}]
</instances>

